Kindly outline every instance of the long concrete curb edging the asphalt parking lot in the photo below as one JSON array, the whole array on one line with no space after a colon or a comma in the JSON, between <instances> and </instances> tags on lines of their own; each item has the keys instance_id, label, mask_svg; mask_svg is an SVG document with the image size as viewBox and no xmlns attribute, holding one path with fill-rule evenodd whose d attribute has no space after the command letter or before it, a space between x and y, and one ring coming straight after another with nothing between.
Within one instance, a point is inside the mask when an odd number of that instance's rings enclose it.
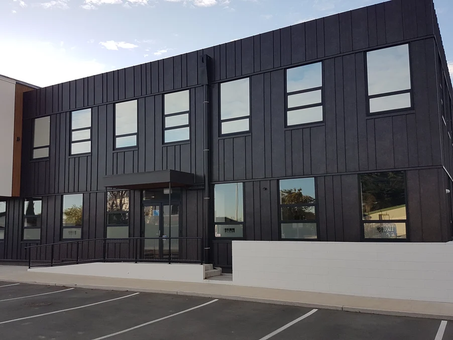
<instances>
[{"instance_id":1,"label":"long concrete curb edging the asphalt parking lot","mask_svg":"<svg viewBox=\"0 0 453 340\"><path fill-rule=\"evenodd\" d=\"M398 310L374 309L374 308L335 305L335 304L307 303L307 302L299 302L299 301L266 299L266 298L253 297L253 296L210 294L210 293L183 291L183 290L162 290L162 289L151 289L151 288L134 288L134 287L117 287L117 286L96 286L96 285L86 285L86 284L76 284L76 283L37 282L37 281L12 280L12 279L2 279L2 281L45 285L45 286L56 286L56 287L68 287L68 288L133 291L133 292L140 292L140 293L157 293L157 294L172 294L172 295L182 295L182 296L197 296L197 297L207 297L207 298L213 298L213 299L260 302L260 303L270 303L270 304L298 306L298 307L307 307L307 308L343 310L343 311L359 312L359 313L382 314L382 315L393 315L393 316L409 316L409 317L431 318L431 319L440 319L440 320L453 320L453 315L448 315L448 314L430 314L430 313L421 313L421 312L403 311L403 310L398 311Z\"/></svg>"}]
</instances>

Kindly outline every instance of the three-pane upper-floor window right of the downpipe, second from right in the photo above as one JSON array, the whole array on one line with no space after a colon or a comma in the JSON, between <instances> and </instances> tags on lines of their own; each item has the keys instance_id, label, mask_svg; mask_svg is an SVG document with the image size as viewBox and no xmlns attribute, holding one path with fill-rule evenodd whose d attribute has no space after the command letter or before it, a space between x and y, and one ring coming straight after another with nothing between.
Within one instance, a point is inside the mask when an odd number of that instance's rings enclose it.
<instances>
[{"instance_id":1,"label":"three-pane upper-floor window right of the downpipe, second from right","mask_svg":"<svg viewBox=\"0 0 453 340\"><path fill-rule=\"evenodd\" d=\"M286 126L322 122L322 63L286 70Z\"/></svg>"}]
</instances>

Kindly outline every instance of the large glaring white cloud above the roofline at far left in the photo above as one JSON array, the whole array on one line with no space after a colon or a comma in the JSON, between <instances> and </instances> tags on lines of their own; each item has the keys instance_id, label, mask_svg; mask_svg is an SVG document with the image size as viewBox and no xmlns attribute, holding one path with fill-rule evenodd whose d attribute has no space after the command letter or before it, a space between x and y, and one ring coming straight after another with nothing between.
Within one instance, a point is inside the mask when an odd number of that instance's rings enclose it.
<instances>
[{"instance_id":1,"label":"large glaring white cloud above the roofline at far left","mask_svg":"<svg viewBox=\"0 0 453 340\"><path fill-rule=\"evenodd\" d=\"M59 43L44 41L0 38L5 51L0 53L0 74L38 85L48 86L106 72L105 65L95 59L73 55L74 52L61 49ZM30 61L30 55L33 60Z\"/></svg>"}]
</instances>

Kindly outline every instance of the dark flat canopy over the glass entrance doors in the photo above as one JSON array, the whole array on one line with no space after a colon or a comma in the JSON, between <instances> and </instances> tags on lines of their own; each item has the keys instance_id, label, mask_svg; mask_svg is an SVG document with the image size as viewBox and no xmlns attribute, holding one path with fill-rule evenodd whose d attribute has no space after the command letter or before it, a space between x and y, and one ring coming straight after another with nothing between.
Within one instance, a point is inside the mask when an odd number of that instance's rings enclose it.
<instances>
[{"instance_id":1,"label":"dark flat canopy over the glass entrance doors","mask_svg":"<svg viewBox=\"0 0 453 340\"><path fill-rule=\"evenodd\" d=\"M191 186L194 175L176 170L160 170L134 174L111 175L102 178L102 185L118 189L153 189Z\"/></svg>"}]
</instances>

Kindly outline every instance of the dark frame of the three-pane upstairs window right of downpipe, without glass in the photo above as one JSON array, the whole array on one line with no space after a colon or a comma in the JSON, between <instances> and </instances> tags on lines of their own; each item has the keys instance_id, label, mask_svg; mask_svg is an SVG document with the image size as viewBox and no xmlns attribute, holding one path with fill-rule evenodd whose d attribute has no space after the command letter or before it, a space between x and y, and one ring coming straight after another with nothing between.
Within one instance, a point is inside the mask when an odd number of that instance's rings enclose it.
<instances>
[{"instance_id":1,"label":"dark frame of the three-pane upstairs window right of downpipe, without glass","mask_svg":"<svg viewBox=\"0 0 453 340\"><path fill-rule=\"evenodd\" d=\"M311 88L306 88L306 89L303 89L303 90L297 90L297 91L288 92L288 77L287 77L288 70L293 69L293 68L297 68L297 67L304 67L304 66L308 66L308 65L314 65L314 64L318 64L318 63L321 64L321 86L311 87ZM314 63L308 63L308 64L303 64L303 65L298 65L298 66L285 68L284 83L285 83L285 129L300 128L301 126L312 125L312 124L321 124L321 123L325 122L325 110L324 110L324 63L323 63L322 60L314 62ZM290 95L300 94L300 93L308 93L308 92L315 92L315 91L318 91L318 90L321 91L321 101L319 103L288 107L288 97ZM288 125L288 112L289 111L296 111L296 110L300 110L300 109L312 108L312 107L318 107L318 106L321 106L322 120L316 121L316 122L308 122L308 123Z\"/></svg>"}]
</instances>

